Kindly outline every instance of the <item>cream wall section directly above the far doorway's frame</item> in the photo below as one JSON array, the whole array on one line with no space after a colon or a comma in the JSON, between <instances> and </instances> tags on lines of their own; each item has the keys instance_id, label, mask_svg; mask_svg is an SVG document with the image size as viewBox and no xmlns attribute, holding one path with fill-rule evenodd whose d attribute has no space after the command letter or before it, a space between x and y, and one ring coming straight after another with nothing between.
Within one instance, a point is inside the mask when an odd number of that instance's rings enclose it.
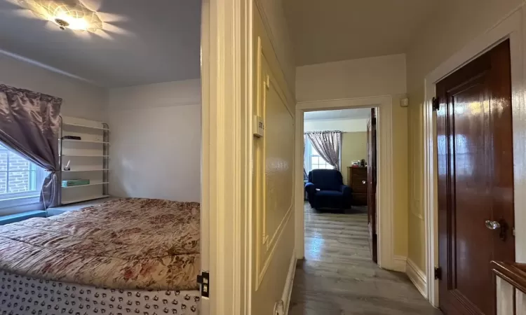
<instances>
[{"instance_id":1,"label":"cream wall section directly above the far doorway's frame","mask_svg":"<svg viewBox=\"0 0 526 315\"><path fill-rule=\"evenodd\" d=\"M405 55L311 64L296 68L298 102L405 93Z\"/></svg>"}]
</instances>

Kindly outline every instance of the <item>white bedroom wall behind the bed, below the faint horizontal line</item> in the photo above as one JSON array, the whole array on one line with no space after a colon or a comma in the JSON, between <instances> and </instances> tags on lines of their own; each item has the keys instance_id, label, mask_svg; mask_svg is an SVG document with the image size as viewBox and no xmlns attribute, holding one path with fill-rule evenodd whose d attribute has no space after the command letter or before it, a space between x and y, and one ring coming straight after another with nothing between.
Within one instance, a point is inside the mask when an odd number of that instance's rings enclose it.
<instances>
[{"instance_id":1,"label":"white bedroom wall behind the bed, below the faint horizontal line","mask_svg":"<svg viewBox=\"0 0 526 315\"><path fill-rule=\"evenodd\" d=\"M199 202L201 80L109 90L109 193Z\"/></svg>"}]
</instances>

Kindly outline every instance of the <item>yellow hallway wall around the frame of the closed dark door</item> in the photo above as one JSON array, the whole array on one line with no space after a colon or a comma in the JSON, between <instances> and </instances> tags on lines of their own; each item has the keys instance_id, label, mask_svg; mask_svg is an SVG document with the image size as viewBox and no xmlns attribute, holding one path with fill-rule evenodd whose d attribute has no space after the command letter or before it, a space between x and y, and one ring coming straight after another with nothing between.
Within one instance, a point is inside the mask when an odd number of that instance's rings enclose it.
<instances>
[{"instance_id":1,"label":"yellow hallway wall around the frame of the closed dark door","mask_svg":"<svg viewBox=\"0 0 526 315\"><path fill-rule=\"evenodd\" d=\"M517 8L521 0L443 0L407 51L407 92L409 119L409 248L408 258L425 271L423 200L422 103L424 77L459 51L469 41Z\"/></svg>"}]
</instances>

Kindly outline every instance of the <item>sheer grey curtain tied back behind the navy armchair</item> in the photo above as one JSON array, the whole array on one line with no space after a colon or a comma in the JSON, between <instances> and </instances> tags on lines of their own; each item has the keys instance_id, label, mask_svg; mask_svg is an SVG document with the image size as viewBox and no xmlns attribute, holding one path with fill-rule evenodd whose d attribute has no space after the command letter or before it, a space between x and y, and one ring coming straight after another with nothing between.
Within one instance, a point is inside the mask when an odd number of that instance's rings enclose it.
<instances>
[{"instance_id":1,"label":"sheer grey curtain tied back behind the navy armchair","mask_svg":"<svg viewBox=\"0 0 526 315\"><path fill-rule=\"evenodd\" d=\"M320 153L321 158L339 171L339 148L342 132L306 132L312 146Z\"/></svg>"}]
</instances>

